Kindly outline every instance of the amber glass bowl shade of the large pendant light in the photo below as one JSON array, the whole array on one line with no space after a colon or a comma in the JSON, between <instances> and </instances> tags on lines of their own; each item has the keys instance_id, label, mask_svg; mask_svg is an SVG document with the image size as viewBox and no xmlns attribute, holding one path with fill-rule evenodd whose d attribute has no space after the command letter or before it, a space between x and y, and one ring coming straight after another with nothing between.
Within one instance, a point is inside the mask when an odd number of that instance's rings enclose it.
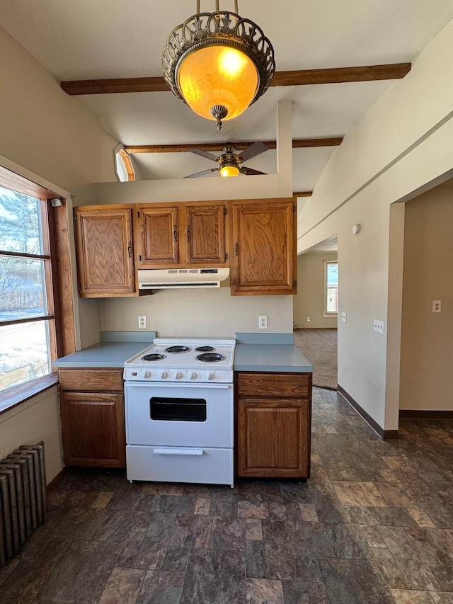
<instances>
[{"instance_id":1,"label":"amber glass bowl shade of the large pendant light","mask_svg":"<svg viewBox=\"0 0 453 604\"><path fill-rule=\"evenodd\" d=\"M178 71L178 86L185 102L208 120L215 120L211 111L215 106L226 108L224 120L235 118L253 101L258 85L253 61L240 50L222 44L194 50L183 59Z\"/></svg>"}]
</instances>

